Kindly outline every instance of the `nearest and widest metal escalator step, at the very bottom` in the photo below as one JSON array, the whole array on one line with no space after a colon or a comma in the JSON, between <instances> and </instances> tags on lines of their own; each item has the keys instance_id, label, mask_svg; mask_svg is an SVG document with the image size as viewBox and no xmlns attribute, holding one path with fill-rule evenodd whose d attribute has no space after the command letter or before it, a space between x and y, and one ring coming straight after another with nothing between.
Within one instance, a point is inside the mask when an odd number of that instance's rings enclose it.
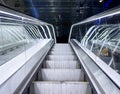
<instances>
[{"instance_id":1,"label":"nearest and widest metal escalator step, at the very bottom","mask_svg":"<svg viewBox=\"0 0 120 94\"><path fill-rule=\"evenodd\" d=\"M30 94L92 94L87 82L34 82Z\"/></svg>"}]
</instances>

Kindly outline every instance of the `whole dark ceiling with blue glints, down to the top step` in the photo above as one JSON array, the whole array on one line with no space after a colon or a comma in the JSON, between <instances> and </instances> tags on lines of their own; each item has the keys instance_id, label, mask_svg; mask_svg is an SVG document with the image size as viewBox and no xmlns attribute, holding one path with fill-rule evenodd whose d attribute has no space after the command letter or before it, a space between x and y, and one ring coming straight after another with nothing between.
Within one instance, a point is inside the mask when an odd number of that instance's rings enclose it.
<instances>
[{"instance_id":1,"label":"whole dark ceiling with blue glints, down to the top step","mask_svg":"<svg viewBox=\"0 0 120 94\"><path fill-rule=\"evenodd\" d=\"M4 5L48 23L56 30L57 41L67 42L70 26L120 4L119 0L1 0Z\"/></svg>"}]
</instances>

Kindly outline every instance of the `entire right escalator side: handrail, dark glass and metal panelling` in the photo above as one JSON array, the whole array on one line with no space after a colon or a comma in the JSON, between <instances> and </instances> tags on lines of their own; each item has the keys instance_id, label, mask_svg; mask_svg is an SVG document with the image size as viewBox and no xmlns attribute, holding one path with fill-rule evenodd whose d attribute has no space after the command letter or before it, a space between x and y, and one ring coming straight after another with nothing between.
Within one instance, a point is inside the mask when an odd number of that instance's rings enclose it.
<instances>
[{"instance_id":1,"label":"entire right escalator side: handrail, dark glass and metal panelling","mask_svg":"<svg viewBox=\"0 0 120 94\"><path fill-rule=\"evenodd\" d=\"M119 16L120 8L108 10L75 23L70 29L68 41L81 61L91 84L94 88L97 87L97 93L120 93ZM80 36L82 32L85 34Z\"/></svg>"}]
</instances>

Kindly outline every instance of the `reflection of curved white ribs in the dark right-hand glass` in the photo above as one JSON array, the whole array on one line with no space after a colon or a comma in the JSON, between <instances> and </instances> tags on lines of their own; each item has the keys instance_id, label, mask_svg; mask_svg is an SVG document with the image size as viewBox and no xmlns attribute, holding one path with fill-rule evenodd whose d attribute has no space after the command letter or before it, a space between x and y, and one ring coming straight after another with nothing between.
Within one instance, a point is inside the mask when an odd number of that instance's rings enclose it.
<instances>
[{"instance_id":1,"label":"reflection of curved white ribs in the dark right-hand glass","mask_svg":"<svg viewBox=\"0 0 120 94\"><path fill-rule=\"evenodd\" d=\"M120 72L120 26L119 24L94 25L88 29L81 44Z\"/></svg>"}]
</instances>

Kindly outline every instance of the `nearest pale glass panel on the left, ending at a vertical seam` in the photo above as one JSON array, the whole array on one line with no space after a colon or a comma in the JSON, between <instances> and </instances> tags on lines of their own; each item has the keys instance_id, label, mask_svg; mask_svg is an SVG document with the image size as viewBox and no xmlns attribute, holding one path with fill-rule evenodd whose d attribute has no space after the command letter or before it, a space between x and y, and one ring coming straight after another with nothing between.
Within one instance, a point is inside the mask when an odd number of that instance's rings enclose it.
<instances>
[{"instance_id":1,"label":"nearest pale glass panel on the left, ending at a vertical seam","mask_svg":"<svg viewBox=\"0 0 120 94\"><path fill-rule=\"evenodd\" d=\"M25 44L22 23L18 22L17 19L1 18L0 65L25 51Z\"/></svg>"}]
</instances>

